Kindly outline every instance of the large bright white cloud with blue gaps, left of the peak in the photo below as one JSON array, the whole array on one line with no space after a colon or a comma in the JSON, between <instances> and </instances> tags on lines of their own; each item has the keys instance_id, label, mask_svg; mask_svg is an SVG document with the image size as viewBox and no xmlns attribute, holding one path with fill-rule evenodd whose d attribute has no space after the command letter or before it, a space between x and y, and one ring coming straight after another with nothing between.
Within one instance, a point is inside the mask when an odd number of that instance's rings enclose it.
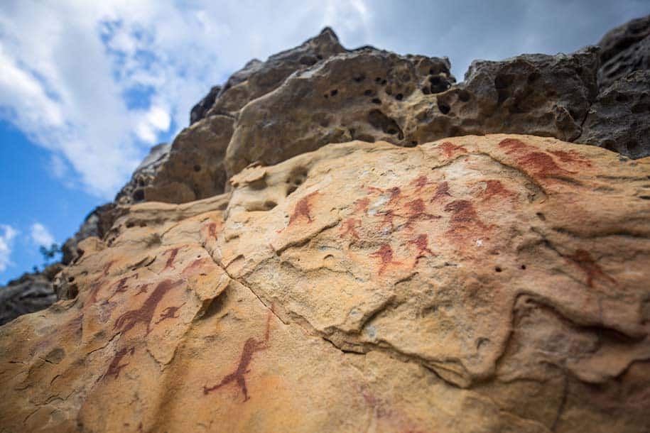
<instances>
[{"instance_id":1,"label":"large bright white cloud with blue gaps, left of the peak","mask_svg":"<svg viewBox=\"0 0 650 433\"><path fill-rule=\"evenodd\" d=\"M53 172L112 199L212 85L325 25L358 32L367 11L363 0L3 1L0 115L53 152Z\"/></svg>"}]
</instances>

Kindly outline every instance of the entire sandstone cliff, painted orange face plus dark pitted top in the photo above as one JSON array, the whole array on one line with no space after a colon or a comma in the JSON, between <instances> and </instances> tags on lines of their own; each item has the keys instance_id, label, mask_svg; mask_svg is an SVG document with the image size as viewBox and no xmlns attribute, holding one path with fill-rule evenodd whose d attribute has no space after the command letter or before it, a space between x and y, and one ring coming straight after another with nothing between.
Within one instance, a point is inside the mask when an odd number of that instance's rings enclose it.
<instances>
[{"instance_id":1,"label":"entire sandstone cliff, painted orange face plus dark pitted top","mask_svg":"<svg viewBox=\"0 0 650 433\"><path fill-rule=\"evenodd\" d=\"M650 429L648 22L249 62L0 327L0 432Z\"/></svg>"}]
</instances>

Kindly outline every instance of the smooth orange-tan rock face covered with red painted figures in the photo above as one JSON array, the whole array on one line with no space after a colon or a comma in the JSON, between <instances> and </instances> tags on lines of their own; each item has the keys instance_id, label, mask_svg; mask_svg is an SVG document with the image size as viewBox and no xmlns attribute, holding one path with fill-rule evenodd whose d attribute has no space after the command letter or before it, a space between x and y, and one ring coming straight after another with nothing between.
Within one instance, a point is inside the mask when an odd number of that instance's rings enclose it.
<instances>
[{"instance_id":1,"label":"smooth orange-tan rock face covered with red painted figures","mask_svg":"<svg viewBox=\"0 0 650 433\"><path fill-rule=\"evenodd\" d=\"M17 431L642 432L650 158L330 144L122 207L0 327Z\"/></svg>"}]
</instances>

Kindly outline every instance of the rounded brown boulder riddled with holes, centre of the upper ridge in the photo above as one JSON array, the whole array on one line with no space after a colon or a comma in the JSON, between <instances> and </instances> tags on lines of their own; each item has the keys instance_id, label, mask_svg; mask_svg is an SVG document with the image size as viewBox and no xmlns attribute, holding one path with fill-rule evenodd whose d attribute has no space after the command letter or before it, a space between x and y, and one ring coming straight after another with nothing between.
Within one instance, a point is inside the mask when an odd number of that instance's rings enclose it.
<instances>
[{"instance_id":1,"label":"rounded brown boulder riddled with holes, centre of the upper ridge","mask_svg":"<svg viewBox=\"0 0 650 433\"><path fill-rule=\"evenodd\" d=\"M415 146L405 128L423 99L435 102L435 94L455 82L449 68L446 58L366 48L296 72L239 113L227 174L249 163L276 164L327 143L359 139Z\"/></svg>"}]
</instances>

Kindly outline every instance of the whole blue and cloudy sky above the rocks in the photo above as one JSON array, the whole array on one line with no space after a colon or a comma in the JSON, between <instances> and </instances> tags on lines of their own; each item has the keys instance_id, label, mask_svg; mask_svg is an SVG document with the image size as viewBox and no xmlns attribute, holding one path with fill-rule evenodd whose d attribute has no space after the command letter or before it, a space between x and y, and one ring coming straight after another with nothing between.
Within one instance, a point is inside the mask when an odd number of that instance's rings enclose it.
<instances>
[{"instance_id":1,"label":"whole blue and cloudy sky above the rocks","mask_svg":"<svg viewBox=\"0 0 650 433\"><path fill-rule=\"evenodd\" d=\"M332 26L343 45L473 59L571 52L646 0L2 0L0 283L40 265L190 108L252 57Z\"/></svg>"}]
</instances>

